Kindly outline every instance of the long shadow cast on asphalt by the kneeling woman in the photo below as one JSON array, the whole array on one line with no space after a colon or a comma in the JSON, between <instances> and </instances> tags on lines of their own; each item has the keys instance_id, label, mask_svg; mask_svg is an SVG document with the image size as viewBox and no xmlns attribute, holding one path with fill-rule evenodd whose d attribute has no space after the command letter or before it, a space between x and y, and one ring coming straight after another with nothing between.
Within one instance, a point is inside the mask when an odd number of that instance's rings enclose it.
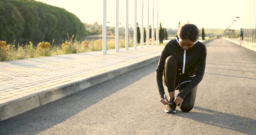
<instances>
[{"instance_id":1,"label":"long shadow cast on asphalt by the kneeling woman","mask_svg":"<svg viewBox=\"0 0 256 135\"><path fill-rule=\"evenodd\" d=\"M228 113L222 113L195 106L194 109L203 111L190 113L177 113L176 116L193 119L197 122L217 126L223 129L233 130L250 135L256 135L256 120ZM192 110L193 111L193 110Z\"/></svg>"}]
</instances>

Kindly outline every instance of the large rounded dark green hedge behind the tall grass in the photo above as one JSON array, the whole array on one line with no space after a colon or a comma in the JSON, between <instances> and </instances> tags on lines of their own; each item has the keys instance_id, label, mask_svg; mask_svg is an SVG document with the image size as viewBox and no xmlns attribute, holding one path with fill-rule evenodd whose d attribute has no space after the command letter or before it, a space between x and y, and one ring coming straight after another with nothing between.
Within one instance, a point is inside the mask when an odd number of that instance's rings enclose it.
<instances>
[{"instance_id":1,"label":"large rounded dark green hedge behind the tall grass","mask_svg":"<svg viewBox=\"0 0 256 135\"><path fill-rule=\"evenodd\" d=\"M0 0L1 41L62 43L67 33L86 36L79 18L63 8L34 0Z\"/></svg>"}]
</instances>

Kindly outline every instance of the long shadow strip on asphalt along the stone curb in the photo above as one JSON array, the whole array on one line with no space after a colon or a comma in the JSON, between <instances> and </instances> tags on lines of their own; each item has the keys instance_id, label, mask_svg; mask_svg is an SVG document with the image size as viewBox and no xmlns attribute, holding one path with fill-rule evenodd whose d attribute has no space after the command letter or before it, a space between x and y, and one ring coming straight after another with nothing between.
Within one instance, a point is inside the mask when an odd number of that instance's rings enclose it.
<instances>
[{"instance_id":1,"label":"long shadow strip on asphalt along the stone curb","mask_svg":"<svg viewBox=\"0 0 256 135\"><path fill-rule=\"evenodd\" d=\"M89 106L155 72L152 69L155 69L156 66L157 62L154 62L53 103L0 121L0 135L35 135L43 132L67 119L72 119L72 116L84 111Z\"/></svg>"}]
</instances>

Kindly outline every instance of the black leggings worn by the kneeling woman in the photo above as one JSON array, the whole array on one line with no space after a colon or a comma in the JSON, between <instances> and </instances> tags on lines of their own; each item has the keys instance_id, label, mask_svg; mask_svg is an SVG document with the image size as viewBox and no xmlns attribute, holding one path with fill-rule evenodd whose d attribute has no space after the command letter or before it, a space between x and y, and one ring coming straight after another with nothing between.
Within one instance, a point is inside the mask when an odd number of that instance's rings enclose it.
<instances>
[{"instance_id":1,"label":"black leggings worn by the kneeling woman","mask_svg":"<svg viewBox=\"0 0 256 135\"><path fill-rule=\"evenodd\" d=\"M184 74L181 74L181 70L177 68L177 58L175 56L167 57L164 64L164 75L163 81L168 88L168 92L174 90L182 91L190 83L184 81L190 81L190 77L187 77ZM184 98L184 101L181 105L182 112L189 112L194 107L194 103L197 95L197 86L194 87Z\"/></svg>"}]
</instances>

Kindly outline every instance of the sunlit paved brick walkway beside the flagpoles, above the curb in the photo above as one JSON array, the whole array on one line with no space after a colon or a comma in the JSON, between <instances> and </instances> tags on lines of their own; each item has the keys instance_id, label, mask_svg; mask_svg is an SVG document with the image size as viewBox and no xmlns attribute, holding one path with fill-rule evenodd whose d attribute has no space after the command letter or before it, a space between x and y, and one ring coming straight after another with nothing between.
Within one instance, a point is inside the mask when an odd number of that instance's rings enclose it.
<instances>
[{"instance_id":1,"label":"sunlit paved brick walkway beside the flagpoles, above the curb","mask_svg":"<svg viewBox=\"0 0 256 135\"><path fill-rule=\"evenodd\" d=\"M16 115L9 114L16 111L15 108L24 108L24 106L20 107L16 105L16 103L11 105L15 106L13 109L8 108L8 103L12 101L68 84L73 83L72 85L75 85L77 81L86 80L108 71L154 58L161 55L163 47L164 46L154 46L146 48L144 46L144 48L138 49L129 48L129 51L125 51L125 48L121 48L119 52L115 52L113 49L108 50L107 55L103 55L102 51L92 51L79 54L1 61L0 119L2 119L1 117L8 118ZM85 85L86 86L82 86L81 89L89 87L91 84ZM71 93L65 95L55 92L54 94L58 96L56 99L59 99ZM56 99L50 100L53 101ZM43 104L42 100L39 102L40 103L37 103L35 106ZM45 103L47 102L48 101ZM28 109L33 108L34 107L30 106ZM24 111L27 110L25 109L22 112ZM4 112L8 116L3 116Z\"/></svg>"}]
</instances>

